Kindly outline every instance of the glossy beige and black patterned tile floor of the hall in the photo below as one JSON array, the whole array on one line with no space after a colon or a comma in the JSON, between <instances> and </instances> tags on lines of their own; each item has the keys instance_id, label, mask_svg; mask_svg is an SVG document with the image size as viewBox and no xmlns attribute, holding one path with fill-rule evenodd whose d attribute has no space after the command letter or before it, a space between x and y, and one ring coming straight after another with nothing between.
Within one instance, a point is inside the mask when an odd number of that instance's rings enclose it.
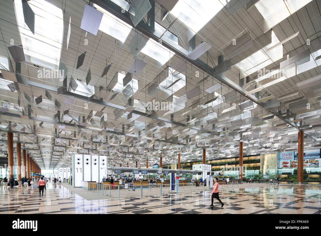
<instances>
[{"instance_id":1,"label":"glossy beige and black patterned tile floor of the hall","mask_svg":"<svg viewBox=\"0 0 321 236\"><path fill-rule=\"evenodd\" d=\"M203 189L162 197L89 201L57 184L47 185L43 197L36 186L8 190L1 187L0 214L321 214L319 185L246 185L233 190L220 186L225 204L222 208L215 199L214 207L209 207L211 192Z\"/></svg>"}]
</instances>

